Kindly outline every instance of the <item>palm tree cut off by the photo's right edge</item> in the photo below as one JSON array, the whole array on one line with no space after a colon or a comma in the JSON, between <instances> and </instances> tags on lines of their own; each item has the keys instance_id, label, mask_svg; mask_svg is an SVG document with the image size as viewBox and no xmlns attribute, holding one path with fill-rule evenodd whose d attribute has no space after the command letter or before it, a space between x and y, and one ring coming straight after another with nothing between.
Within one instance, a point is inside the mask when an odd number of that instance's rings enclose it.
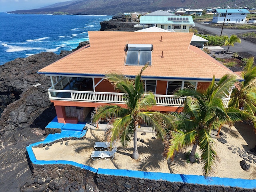
<instances>
[{"instance_id":1,"label":"palm tree cut off by the photo's right edge","mask_svg":"<svg viewBox=\"0 0 256 192\"><path fill-rule=\"evenodd\" d=\"M233 89L228 106L240 108L250 114L250 119L256 127L254 114L256 113L256 66L254 57L249 57L246 60L246 66L243 69L241 77L244 81L236 84Z\"/></svg>"}]
</instances>

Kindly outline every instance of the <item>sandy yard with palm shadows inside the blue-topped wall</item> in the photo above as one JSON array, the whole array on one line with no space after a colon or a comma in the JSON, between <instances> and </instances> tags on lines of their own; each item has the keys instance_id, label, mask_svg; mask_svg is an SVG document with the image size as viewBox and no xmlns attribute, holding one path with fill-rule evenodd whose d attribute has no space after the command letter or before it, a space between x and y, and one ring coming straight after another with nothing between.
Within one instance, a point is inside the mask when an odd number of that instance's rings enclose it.
<instances>
[{"instance_id":1,"label":"sandy yard with palm shadows inside the blue-topped wall","mask_svg":"<svg viewBox=\"0 0 256 192\"><path fill-rule=\"evenodd\" d=\"M220 162L217 165L217 173L214 176L256 179L256 154L250 154L250 149L256 145L256 134L252 126L237 123L236 127L233 126L231 130L223 128L222 132L224 133L223 138L227 140L227 143L223 144L214 138L214 147L220 158ZM69 160L96 169L128 169L146 172L202 175L202 164L190 164L185 160L185 152L189 148L176 156L174 162L168 163L167 160L162 158L164 146L161 140L152 139L153 136L155 136L153 133L147 132L146 135L141 135L141 132L138 132L138 138L144 139L144 143L138 142L138 152L140 154L138 160L134 160L131 157L133 142L127 148L123 148L118 143L118 150L113 160L92 160L90 155L94 150L94 143L96 141L105 141L105 139L104 131L91 129L88 129L86 139L83 141L68 140L52 144L52 146L32 149L37 160ZM46 147L48 148L47 150ZM253 158L251 163L246 161L251 166L247 171L244 171L240 166L240 161L243 158L239 156L238 151L241 152L242 150ZM254 159L255 162L253 161Z\"/></svg>"}]
</instances>

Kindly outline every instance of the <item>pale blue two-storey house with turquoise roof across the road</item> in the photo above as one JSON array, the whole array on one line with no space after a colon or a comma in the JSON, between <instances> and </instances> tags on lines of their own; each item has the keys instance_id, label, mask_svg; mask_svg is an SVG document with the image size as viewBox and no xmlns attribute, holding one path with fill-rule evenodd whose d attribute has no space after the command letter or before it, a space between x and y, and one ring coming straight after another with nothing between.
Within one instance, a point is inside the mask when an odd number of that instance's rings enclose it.
<instances>
[{"instance_id":1,"label":"pale blue two-storey house with turquoise roof across the road","mask_svg":"<svg viewBox=\"0 0 256 192\"><path fill-rule=\"evenodd\" d=\"M247 9L216 9L213 13L213 23L223 23L224 19L226 23L246 23L246 15L250 12Z\"/></svg>"}]
</instances>

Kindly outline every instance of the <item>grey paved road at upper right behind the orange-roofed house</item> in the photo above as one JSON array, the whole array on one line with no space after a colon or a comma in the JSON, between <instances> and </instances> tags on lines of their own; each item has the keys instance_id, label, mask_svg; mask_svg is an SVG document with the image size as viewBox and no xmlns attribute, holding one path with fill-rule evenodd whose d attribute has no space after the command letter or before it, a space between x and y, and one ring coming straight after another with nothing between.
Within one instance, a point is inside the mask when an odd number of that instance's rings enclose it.
<instances>
[{"instance_id":1,"label":"grey paved road at upper right behind the orange-roofed house","mask_svg":"<svg viewBox=\"0 0 256 192\"><path fill-rule=\"evenodd\" d=\"M208 31L210 34L220 35L221 28L213 28L206 24L195 23L195 27L201 28L205 31ZM256 32L256 30L241 30L241 29L223 29L222 35L232 35L232 34L240 34L246 32ZM227 50L228 46L222 46L225 50ZM256 44L248 42L246 40L241 39L241 43L236 43L234 47L230 46L230 51L232 52L248 52L256 57Z\"/></svg>"}]
</instances>

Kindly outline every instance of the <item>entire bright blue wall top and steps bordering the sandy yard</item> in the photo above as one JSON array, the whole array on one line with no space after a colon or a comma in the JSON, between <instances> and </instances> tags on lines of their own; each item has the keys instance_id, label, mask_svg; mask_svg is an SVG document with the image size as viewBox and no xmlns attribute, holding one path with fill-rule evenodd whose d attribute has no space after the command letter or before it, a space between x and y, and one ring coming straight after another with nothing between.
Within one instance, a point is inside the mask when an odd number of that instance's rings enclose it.
<instances>
[{"instance_id":1,"label":"entire bright blue wall top and steps bordering the sandy yard","mask_svg":"<svg viewBox=\"0 0 256 192\"><path fill-rule=\"evenodd\" d=\"M56 126L56 123L58 123L56 121L57 121L56 118L54 118L54 120L48 124L48 128L50 128L51 124L53 126ZM68 125L69 124L66 124L66 126ZM78 127L76 128L76 126ZM198 175L170 174L170 173L161 173L161 172L143 172L143 171L134 171L134 170L102 169L102 168L98 168L97 170L90 166L79 164L79 163L68 161L68 160L47 161L47 160L36 159L36 156L32 150L33 146L38 146L40 144L48 144L60 138L82 137L86 134L86 131L87 131L87 130L81 130L81 127L84 127L84 126L85 124L72 124L72 126L70 126L71 130L70 129L62 130L61 133L49 134L44 141L36 142L34 144L30 144L29 146L27 146L26 150L28 152L28 156L31 162L33 164L39 164L39 165L70 164L72 166L76 166L97 174L104 174L104 175L125 176L125 177L142 178L142 179L150 179L150 180L166 180L169 182L182 182L182 183L190 183L190 184L216 185L216 186L226 186L226 187L231 186L231 187L239 187L244 189L256 188L256 180L220 178L220 177L212 177L210 178L210 180L207 180L204 178L204 176L198 176Z\"/></svg>"}]
</instances>

